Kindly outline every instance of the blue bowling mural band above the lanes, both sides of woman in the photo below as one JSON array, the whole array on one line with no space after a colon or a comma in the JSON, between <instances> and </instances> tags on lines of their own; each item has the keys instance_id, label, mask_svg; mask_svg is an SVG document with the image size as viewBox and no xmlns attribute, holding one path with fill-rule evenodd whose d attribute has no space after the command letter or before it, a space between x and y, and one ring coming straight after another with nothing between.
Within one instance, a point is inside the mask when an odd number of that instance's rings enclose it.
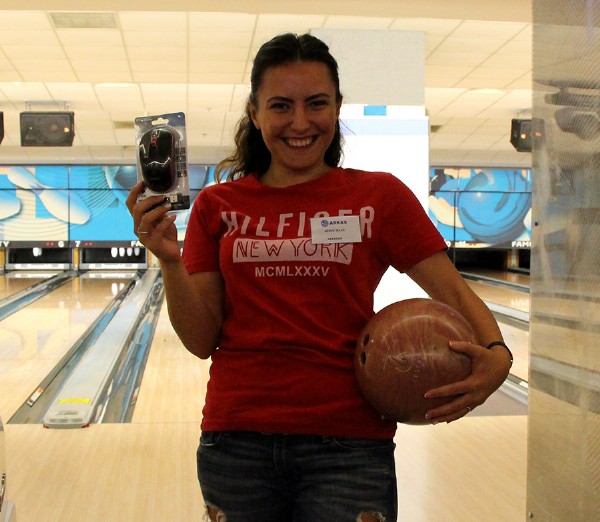
<instances>
[{"instance_id":1,"label":"blue bowling mural band above the lanes, both sides of woman","mask_svg":"<svg viewBox=\"0 0 600 522\"><path fill-rule=\"evenodd\" d=\"M190 167L192 200L213 176L213 166ZM0 166L1 244L9 254L44 252L45 261L61 250L65 265L70 249L135 246L125 206L135 183L131 165ZM531 170L432 168L428 212L449 247L528 249ZM189 210L178 213L180 240L188 218ZM9 268L19 265L10 257Z\"/></svg>"}]
</instances>

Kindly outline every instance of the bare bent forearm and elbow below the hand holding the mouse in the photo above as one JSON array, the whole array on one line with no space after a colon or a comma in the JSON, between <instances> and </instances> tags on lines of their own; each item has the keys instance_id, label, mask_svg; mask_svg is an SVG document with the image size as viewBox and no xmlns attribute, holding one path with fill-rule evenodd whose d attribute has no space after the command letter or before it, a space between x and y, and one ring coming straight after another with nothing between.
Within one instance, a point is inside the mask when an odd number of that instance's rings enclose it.
<instances>
[{"instance_id":1,"label":"bare bent forearm and elbow below the hand holding the mouse","mask_svg":"<svg viewBox=\"0 0 600 522\"><path fill-rule=\"evenodd\" d=\"M181 260L161 261L169 319L185 348L207 359L216 349L222 323L218 273L188 274Z\"/></svg>"}]
</instances>

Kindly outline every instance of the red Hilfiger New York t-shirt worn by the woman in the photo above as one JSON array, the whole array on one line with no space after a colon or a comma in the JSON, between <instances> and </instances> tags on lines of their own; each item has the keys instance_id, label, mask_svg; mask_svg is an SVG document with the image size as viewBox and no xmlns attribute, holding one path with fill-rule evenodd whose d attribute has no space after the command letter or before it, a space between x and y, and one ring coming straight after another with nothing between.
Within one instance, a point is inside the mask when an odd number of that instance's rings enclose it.
<instances>
[{"instance_id":1,"label":"red Hilfiger New York t-shirt worn by the woman","mask_svg":"<svg viewBox=\"0 0 600 522\"><path fill-rule=\"evenodd\" d=\"M310 218L358 216L362 241L313 244ZM190 273L225 280L202 429L390 438L354 375L360 332L388 266L445 248L412 192L387 173L335 168L285 188L256 176L203 189L187 227ZM398 296L401 299L401 296Z\"/></svg>"}]
</instances>

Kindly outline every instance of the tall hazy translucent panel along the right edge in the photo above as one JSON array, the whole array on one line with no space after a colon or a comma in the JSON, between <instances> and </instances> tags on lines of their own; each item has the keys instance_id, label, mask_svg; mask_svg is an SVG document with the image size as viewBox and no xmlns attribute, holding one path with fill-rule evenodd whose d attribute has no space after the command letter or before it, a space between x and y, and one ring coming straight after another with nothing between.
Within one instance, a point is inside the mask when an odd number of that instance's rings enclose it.
<instances>
[{"instance_id":1,"label":"tall hazy translucent panel along the right edge","mask_svg":"<svg viewBox=\"0 0 600 522\"><path fill-rule=\"evenodd\" d=\"M533 2L527 517L600 520L600 9ZM507 458L510 458L507 455Z\"/></svg>"}]
</instances>

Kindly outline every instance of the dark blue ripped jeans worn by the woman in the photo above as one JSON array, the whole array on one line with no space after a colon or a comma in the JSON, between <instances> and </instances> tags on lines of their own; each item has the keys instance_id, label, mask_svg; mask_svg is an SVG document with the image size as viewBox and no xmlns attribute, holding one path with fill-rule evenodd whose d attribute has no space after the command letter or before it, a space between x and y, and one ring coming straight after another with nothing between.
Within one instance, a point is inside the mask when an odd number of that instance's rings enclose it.
<instances>
[{"instance_id":1,"label":"dark blue ripped jeans worn by the woman","mask_svg":"<svg viewBox=\"0 0 600 522\"><path fill-rule=\"evenodd\" d=\"M198 478L210 520L394 522L393 440L203 432Z\"/></svg>"}]
</instances>

